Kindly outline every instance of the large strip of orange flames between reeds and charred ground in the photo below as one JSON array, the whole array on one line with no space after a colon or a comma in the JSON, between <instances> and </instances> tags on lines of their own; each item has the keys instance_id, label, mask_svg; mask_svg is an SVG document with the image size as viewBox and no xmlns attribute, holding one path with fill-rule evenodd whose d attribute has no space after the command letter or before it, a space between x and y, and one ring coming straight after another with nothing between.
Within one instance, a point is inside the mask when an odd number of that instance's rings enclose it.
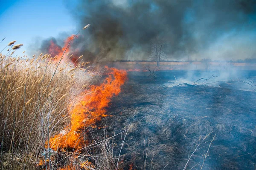
<instances>
[{"instance_id":1,"label":"large strip of orange flames between reeds and charred ground","mask_svg":"<svg viewBox=\"0 0 256 170\"><path fill-rule=\"evenodd\" d=\"M105 67L108 69L105 81L99 86L91 86L79 95L75 104L70 104L70 126L66 127L64 134L60 133L50 139L51 149L81 149L85 142L81 137L84 127L89 127L107 116L105 107L108 107L111 98L121 91L120 87L125 83L127 73L124 70Z\"/></svg>"}]
</instances>

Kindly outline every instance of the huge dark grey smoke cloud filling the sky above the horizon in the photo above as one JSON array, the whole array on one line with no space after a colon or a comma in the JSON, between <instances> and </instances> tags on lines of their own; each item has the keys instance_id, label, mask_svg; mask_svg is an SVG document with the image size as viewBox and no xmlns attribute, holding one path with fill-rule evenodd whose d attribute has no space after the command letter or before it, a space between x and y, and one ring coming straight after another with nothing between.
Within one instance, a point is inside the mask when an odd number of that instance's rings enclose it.
<instances>
[{"instance_id":1,"label":"huge dark grey smoke cloud filling the sky above the horizon","mask_svg":"<svg viewBox=\"0 0 256 170\"><path fill-rule=\"evenodd\" d=\"M256 57L256 0L79 0L74 43L90 61L146 60L156 38L170 60Z\"/></svg>"}]
</instances>

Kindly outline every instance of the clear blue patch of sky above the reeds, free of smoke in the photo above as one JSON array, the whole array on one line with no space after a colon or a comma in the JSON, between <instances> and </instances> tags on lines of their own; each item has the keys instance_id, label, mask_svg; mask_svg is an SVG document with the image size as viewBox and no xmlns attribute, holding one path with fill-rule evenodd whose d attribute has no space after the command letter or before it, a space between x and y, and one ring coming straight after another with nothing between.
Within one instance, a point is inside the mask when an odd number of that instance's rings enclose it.
<instances>
[{"instance_id":1,"label":"clear blue patch of sky above the reeds, free of smoke","mask_svg":"<svg viewBox=\"0 0 256 170\"><path fill-rule=\"evenodd\" d=\"M63 0L0 0L0 51L12 40L24 46L21 54L33 43L76 28L75 20ZM5 52L3 52L5 54Z\"/></svg>"}]
</instances>

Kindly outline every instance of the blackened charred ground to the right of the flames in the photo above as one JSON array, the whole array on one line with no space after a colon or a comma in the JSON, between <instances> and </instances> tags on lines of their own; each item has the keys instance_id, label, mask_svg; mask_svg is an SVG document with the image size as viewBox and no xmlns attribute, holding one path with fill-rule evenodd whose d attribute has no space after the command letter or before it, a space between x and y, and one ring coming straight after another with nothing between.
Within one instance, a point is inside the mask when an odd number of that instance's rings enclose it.
<instances>
[{"instance_id":1,"label":"blackened charred ground to the right of the flames","mask_svg":"<svg viewBox=\"0 0 256 170\"><path fill-rule=\"evenodd\" d=\"M209 143L216 134L204 163L205 170L249 170L256 164L256 92L243 91L232 83L221 88L209 86L167 87L173 75L160 72L157 78L129 72L122 92L112 99L108 113L99 126L107 125L108 135L129 127L121 158L128 169L143 167L143 138L150 139L147 170L183 170L189 153L200 135L212 132L189 161L187 170L202 164ZM252 72L250 72L252 74ZM254 73L253 73L254 74ZM256 75L256 74L255 74ZM103 133L103 129L98 130ZM118 156L121 137L114 142ZM154 153L154 154L153 154ZM153 156L154 155L154 156ZM153 158L153 160L152 160ZM152 163L151 163L152 160ZM144 168L143 168L144 169ZM194 169L200 169L195 166Z\"/></svg>"}]
</instances>

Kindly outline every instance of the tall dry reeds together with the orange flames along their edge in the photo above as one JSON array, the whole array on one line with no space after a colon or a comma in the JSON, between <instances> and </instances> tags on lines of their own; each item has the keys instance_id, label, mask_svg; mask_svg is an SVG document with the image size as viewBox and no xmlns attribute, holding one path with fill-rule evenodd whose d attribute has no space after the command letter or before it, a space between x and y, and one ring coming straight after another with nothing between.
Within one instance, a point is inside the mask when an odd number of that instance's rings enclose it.
<instances>
[{"instance_id":1,"label":"tall dry reeds together with the orange flames along their edge","mask_svg":"<svg viewBox=\"0 0 256 170\"><path fill-rule=\"evenodd\" d=\"M106 116L126 72L106 66L105 81L95 85L101 75L88 70L89 62L59 65L59 54L14 58L13 52L0 54L1 169L117 167L112 137L89 139L87 128Z\"/></svg>"}]
</instances>

